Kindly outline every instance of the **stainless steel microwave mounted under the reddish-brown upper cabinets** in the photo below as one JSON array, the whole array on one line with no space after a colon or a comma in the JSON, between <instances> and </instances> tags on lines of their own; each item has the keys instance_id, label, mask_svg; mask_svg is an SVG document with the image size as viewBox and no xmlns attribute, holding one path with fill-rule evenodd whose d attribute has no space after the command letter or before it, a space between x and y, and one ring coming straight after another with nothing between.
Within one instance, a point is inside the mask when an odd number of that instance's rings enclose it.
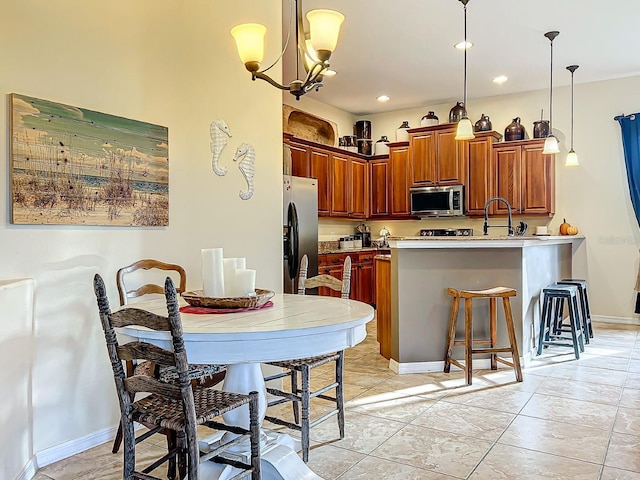
<instances>
[{"instance_id":1,"label":"stainless steel microwave mounted under the reddish-brown upper cabinets","mask_svg":"<svg viewBox=\"0 0 640 480\"><path fill-rule=\"evenodd\" d=\"M411 215L458 217L464 215L464 186L411 187Z\"/></svg>"}]
</instances>

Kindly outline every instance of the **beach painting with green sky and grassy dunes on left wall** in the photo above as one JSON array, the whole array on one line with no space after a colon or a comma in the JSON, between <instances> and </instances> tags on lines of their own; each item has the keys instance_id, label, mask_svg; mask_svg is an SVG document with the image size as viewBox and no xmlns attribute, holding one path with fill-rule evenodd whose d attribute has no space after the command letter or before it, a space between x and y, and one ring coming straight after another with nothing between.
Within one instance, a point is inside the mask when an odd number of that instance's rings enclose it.
<instances>
[{"instance_id":1,"label":"beach painting with green sky and grassy dunes on left wall","mask_svg":"<svg viewBox=\"0 0 640 480\"><path fill-rule=\"evenodd\" d=\"M167 127L10 99L12 223L169 224Z\"/></svg>"}]
</instances>

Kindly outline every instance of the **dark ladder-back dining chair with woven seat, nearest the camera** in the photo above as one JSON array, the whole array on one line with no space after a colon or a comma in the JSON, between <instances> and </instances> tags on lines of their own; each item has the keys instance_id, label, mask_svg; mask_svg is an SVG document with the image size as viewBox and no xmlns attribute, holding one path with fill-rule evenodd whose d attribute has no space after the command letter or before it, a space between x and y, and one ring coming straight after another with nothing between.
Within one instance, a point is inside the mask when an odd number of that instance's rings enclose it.
<instances>
[{"instance_id":1,"label":"dark ladder-back dining chair with woven seat, nearest the camera","mask_svg":"<svg viewBox=\"0 0 640 480\"><path fill-rule=\"evenodd\" d=\"M177 463L179 478L198 480L200 463L210 460L243 470L234 476L234 479L251 475L252 480L260 480L258 393L251 392L248 395L242 395L192 385L188 377L189 365L182 337L182 320L178 308L177 293L171 278L167 277L164 287L168 311L166 317L134 307L111 312L102 277L96 274L93 284L120 403L124 432L122 478L124 480L160 480L159 477L150 473L160 465L169 462L170 472L172 469L175 472ZM119 344L115 329L129 325L140 325L156 331L169 332L173 350L165 350L140 341ZM122 362L137 359L175 368L178 372L178 382L164 383L148 375L127 376ZM132 399L138 393L148 395L133 401ZM228 426L215 420L222 414L245 405L249 407L248 429ZM160 430L175 432L173 448L142 470L136 469L137 442L134 422L151 428L151 432ZM230 437L231 440L221 442L211 452L201 453L198 449L198 425L232 432L234 435ZM229 447L247 440L251 449L250 462L238 459L237 455L232 456L234 454L226 453ZM185 475L188 476L185 477Z\"/></svg>"}]
</instances>

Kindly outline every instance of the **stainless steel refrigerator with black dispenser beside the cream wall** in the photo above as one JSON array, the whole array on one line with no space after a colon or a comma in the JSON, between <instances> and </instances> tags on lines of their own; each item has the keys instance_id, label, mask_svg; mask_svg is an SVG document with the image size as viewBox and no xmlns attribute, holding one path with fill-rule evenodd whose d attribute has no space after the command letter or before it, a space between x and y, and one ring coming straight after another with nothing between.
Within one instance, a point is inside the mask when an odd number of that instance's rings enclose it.
<instances>
[{"instance_id":1,"label":"stainless steel refrigerator with black dispenser beside the cream wall","mask_svg":"<svg viewBox=\"0 0 640 480\"><path fill-rule=\"evenodd\" d=\"M309 277L318 274L318 181L283 176L284 292L298 293L300 259Z\"/></svg>"}]
</instances>

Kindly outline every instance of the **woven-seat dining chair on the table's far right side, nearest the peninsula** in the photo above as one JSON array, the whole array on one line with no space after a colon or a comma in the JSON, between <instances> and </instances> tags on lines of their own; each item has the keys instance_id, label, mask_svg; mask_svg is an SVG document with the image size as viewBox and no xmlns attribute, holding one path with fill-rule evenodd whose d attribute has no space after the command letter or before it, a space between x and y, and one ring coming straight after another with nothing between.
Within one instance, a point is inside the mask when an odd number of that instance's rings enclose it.
<instances>
[{"instance_id":1,"label":"woven-seat dining chair on the table's far right side, nearest the peninsula","mask_svg":"<svg viewBox=\"0 0 640 480\"><path fill-rule=\"evenodd\" d=\"M309 259L306 255L302 257L300 262L300 276L298 280L298 294L304 295L308 289L328 287L332 290L341 292L341 297L349 298L351 289L351 257L347 257L342 268L342 280L332 277L331 275L318 275L307 278L307 269ZM311 391L310 374L313 368L321 365L335 362L335 378L334 381ZM268 362L269 365L280 367L282 372L265 377L265 381L276 380L279 378L289 377L291 381L291 391L285 392L276 388L267 387L267 392L275 396L267 407L273 407L286 402L292 402L294 423L282 418L267 415L265 419L277 425L284 425L301 432L302 443L302 459L307 462L309 460L309 430L319 423L327 420L332 416L338 417L338 429L340 438L344 438L344 351L341 350L327 355L319 355L310 358L299 358L295 360L285 360L278 362ZM301 383L298 388L298 373L300 373ZM335 390L335 396L327 395L330 390ZM312 398L321 398L335 403L335 408L325 415L311 419L310 403ZM302 416L300 408L302 406Z\"/></svg>"}]
</instances>

